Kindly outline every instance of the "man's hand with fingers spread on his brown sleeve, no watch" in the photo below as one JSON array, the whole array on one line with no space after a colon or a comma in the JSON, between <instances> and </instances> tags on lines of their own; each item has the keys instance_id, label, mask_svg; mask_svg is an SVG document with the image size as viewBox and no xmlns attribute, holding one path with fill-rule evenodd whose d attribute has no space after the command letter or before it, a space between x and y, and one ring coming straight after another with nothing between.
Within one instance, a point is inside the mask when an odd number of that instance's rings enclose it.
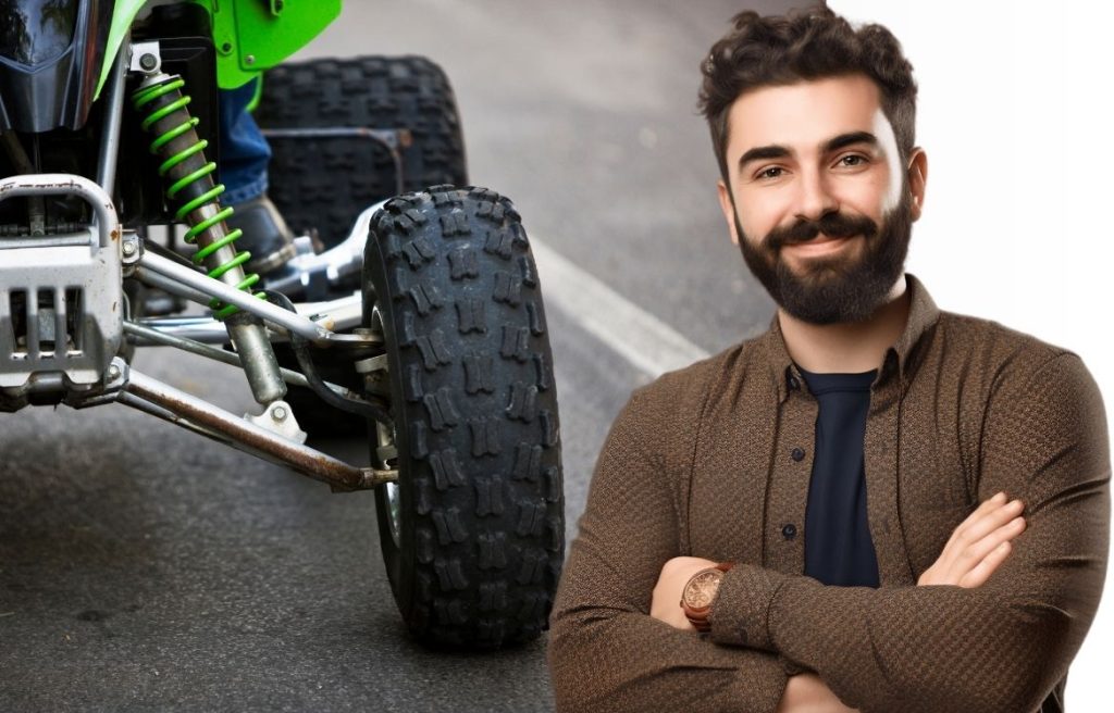
<instances>
[{"instance_id":1,"label":"man's hand with fingers spread on his brown sleeve, no watch","mask_svg":"<svg viewBox=\"0 0 1114 713\"><path fill-rule=\"evenodd\" d=\"M944 552L920 575L917 585L981 586L1009 556L1010 541L1025 531L1024 511L1020 501L1007 502L1005 493L979 505L951 533Z\"/></svg>"}]
</instances>

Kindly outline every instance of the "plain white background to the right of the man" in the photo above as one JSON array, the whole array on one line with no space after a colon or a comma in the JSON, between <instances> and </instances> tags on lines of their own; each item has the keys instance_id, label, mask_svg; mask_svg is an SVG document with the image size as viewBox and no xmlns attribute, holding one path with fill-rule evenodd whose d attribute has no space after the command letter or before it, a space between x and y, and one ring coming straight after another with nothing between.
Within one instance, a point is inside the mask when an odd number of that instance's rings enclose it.
<instances>
[{"instance_id":1,"label":"plain white background to the right of the man","mask_svg":"<svg viewBox=\"0 0 1114 713\"><path fill-rule=\"evenodd\" d=\"M1074 350L1108 412L1114 9L1083 0L828 4L889 27L920 86L917 142L929 176L909 270L944 309ZM1112 578L1068 676L1072 713L1114 710Z\"/></svg>"}]
</instances>

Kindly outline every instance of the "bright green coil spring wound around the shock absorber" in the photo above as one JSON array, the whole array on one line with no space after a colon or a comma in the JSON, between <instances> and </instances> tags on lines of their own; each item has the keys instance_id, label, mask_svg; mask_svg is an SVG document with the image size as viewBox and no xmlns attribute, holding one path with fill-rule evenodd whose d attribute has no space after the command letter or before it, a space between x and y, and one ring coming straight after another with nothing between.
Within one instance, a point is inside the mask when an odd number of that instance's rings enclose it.
<instances>
[{"instance_id":1,"label":"bright green coil spring wound around the shock absorber","mask_svg":"<svg viewBox=\"0 0 1114 713\"><path fill-rule=\"evenodd\" d=\"M190 98L188 95L182 92L182 88L185 87L185 81L180 77L168 77L169 81L163 81L149 87L138 89L131 96L131 103L137 111L143 111L144 107L147 107L160 97L166 97L167 95L177 93L178 97L175 98L169 103L158 107L152 110L146 117L144 117L141 126L145 131L153 131L153 127L173 115L176 111L182 113L183 121L170 129L167 129L155 137L155 140L150 143L150 152L153 155L167 155L166 160L158 167L158 175L166 178L167 175L176 166L182 165L189 158L197 156L201 159L201 168L190 171L186 176L178 178L174 181L169 188L166 190L166 197L172 201L177 201L178 195L189 187L195 187L194 190L189 192L199 192L196 197L186 201L177 211L174 217L179 222L189 222L190 216L194 210L197 210L202 206L207 204L213 204L216 206L216 215L201 220L195 225L190 225L189 229L186 231L185 240L186 242L193 244L199 236L207 235L207 231L221 224L222 221L228 219L233 214L232 206L221 207L219 196L224 192L224 184L216 184L211 176L216 171L216 164L213 161L206 161L204 150L208 147L208 141L197 137L195 129L199 122L196 117L190 117L188 109L186 107L189 105ZM196 139L187 148L178 151L173 151L169 147L174 139L193 132L193 137ZM169 180L169 179L168 179ZM243 230L235 229L224 235L219 238L214 239L207 245L203 245L194 254L193 260L197 265L202 265L206 258L211 255L215 255L217 250L225 246L233 246L237 238L243 235ZM211 265L208 270L208 276L217 279L228 270L240 267L247 260L252 258L252 254L246 250L243 252L236 252L235 246L233 246L233 252L235 257L219 263L217 265ZM256 274L245 275L244 279L236 285L236 289L246 291L252 295L252 286L260 281L260 276ZM257 293L255 297L264 298L263 293ZM223 305L219 300L214 299L209 303L209 308L214 310L214 316L217 319L225 319L237 311L240 308L235 305Z\"/></svg>"}]
</instances>

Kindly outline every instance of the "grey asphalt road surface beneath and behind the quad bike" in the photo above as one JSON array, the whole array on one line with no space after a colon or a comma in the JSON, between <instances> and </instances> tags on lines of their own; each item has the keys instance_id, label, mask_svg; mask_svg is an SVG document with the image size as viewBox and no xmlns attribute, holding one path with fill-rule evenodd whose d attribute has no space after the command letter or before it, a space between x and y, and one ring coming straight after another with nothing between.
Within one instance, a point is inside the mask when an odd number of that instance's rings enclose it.
<instances>
[{"instance_id":1,"label":"grey asphalt road surface beneath and behind the quad bike","mask_svg":"<svg viewBox=\"0 0 1114 713\"><path fill-rule=\"evenodd\" d=\"M739 6L350 0L301 56L441 63L472 181L515 199L564 275L598 288L586 307L543 265L569 537L631 389L772 314L726 239L694 109L698 62ZM675 348L634 364L632 324ZM157 350L136 368L251 404L231 368ZM0 415L0 711L553 707L545 637L482 656L407 637L370 493L333 495L123 406Z\"/></svg>"}]
</instances>

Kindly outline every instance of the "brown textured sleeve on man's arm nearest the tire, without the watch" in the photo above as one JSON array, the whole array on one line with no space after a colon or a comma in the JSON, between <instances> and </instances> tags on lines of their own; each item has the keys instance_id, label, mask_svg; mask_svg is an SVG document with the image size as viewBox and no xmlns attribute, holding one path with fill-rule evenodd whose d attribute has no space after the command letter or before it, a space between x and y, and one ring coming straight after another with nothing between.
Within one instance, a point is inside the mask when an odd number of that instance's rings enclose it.
<instances>
[{"instance_id":1,"label":"brown textured sleeve on man's arm nearest the tire, without the watch","mask_svg":"<svg viewBox=\"0 0 1114 713\"><path fill-rule=\"evenodd\" d=\"M550 621L557 710L772 713L786 681L776 656L649 616L662 565L687 554L662 457L667 409L649 403L661 400L636 393L597 463Z\"/></svg>"}]
</instances>

